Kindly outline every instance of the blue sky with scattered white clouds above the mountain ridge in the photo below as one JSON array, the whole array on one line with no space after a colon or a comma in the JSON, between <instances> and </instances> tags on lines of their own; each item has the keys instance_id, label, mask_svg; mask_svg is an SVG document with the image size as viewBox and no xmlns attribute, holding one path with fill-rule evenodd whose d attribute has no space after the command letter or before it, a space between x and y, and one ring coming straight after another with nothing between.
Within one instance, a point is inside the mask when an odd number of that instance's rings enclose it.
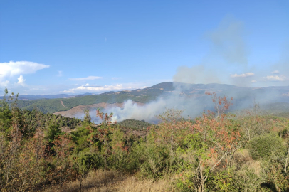
<instances>
[{"instance_id":1,"label":"blue sky with scattered white clouds above the mountain ridge","mask_svg":"<svg viewBox=\"0 0 289 192\"><path fill-rule=\"evenodd\" d=\"M289 1L0 0L0 89L289 85Z\"/></svg>"}]
</instances>

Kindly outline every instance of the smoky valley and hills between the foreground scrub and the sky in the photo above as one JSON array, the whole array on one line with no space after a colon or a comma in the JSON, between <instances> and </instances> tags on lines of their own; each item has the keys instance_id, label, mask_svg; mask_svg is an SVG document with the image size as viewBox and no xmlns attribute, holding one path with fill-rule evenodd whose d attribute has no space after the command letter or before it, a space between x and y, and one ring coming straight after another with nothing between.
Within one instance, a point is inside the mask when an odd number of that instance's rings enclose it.
<instances>
[{"instance_id":1,"label":"smoky valley and hills between the foreground scrub and the sky","mask_svg":"<svg viewBox=\"0 0 289 192\"><path fill-rule=\"evenodd\" d=\"M35 97L36 100L19 100L19 106L22 110L37 109L80 119L83 119L85 110L90 110L91 117L95 117L96 109L101 108L105 112L112 112L117 121L137 119L154 122L157 115L167 108L184 110L184 117L196 117L204 110L211 110L214 106L210 105L211 97L206 95L206 92L233 97L231 111L259 105L263 110L271 112L289 112L289 86L238 87L181 82L162 82L144 89L105 92L99 95L50 95L49 97L59 97L50 100L38 100L38 97ZM278 107L274 107L277 105Z\"/></svg>"}]
</instances>

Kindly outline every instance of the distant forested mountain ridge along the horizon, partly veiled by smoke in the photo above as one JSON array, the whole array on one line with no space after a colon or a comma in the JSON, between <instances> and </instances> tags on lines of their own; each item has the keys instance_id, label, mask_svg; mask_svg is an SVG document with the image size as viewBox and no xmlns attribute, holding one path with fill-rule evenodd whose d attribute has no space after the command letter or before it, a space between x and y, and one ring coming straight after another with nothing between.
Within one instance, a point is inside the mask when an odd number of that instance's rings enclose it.
<instances>
[{"instance_id":1,"label":"distant forested mountain ridge along the horizon, partly veiled by smoke","mask_svg":"<svg viewBox=\"0 0 289 192\"><path fill-rule=\"evenodd\" d=\"M256 100L256 102L289 102L289 87L237 87L226 84L188 84L182 82L162 82L152 87L137 90L125 90L118 92L105 92L98 95L86 93L85 95L36 95L39 100L19 100L21 109L38 109L42 112L59 112L70 110L78 105L93 105L100 102L122 103L126 100L147 103L156 100L158 97L168 97L169 95L181 95L182 97L199 102L208 102L210 98L206 92L217 92L219 95L226 95L234 98L234 106L242 107L246 100ZM20 97L22 97L21 95ZM27 95L26 95L27 97ZM57 98L56 98L57 97ZM27 97L29 98L29 97ZM61 105L61 101L63 105ZM239 106L238 106L239 105Z\"/></svg>"}]
</instances>

